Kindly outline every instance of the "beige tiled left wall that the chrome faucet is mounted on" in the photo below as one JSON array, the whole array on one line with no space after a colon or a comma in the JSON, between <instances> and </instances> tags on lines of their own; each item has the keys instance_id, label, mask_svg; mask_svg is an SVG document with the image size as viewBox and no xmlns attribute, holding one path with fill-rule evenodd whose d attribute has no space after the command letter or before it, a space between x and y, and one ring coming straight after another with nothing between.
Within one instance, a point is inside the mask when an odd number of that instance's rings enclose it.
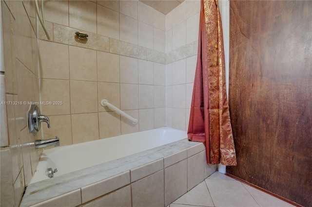
<instances>
[{"instance_id":1,"label":"beige tiled left wall that the chrome faucet is mounted on","mask_svg":"<svg viewBox=\"0 0 312 207\"><path fill-rule=\"evenodd\" d=\"M1 1L1 206L19 206L42 152L31 144L37 137L29 134L26 117L29 102L39 102L34 8L33 1Z\"/></svg>"}]
</instances>

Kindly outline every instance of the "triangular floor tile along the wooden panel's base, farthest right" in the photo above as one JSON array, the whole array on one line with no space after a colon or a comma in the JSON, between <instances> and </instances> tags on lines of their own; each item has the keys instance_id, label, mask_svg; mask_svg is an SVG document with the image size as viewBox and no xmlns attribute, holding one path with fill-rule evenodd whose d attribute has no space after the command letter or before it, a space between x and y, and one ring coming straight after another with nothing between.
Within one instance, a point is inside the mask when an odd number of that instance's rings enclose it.
<instances>
[{"instance_id":1,"label":"triangular floor tile along the wooden panel's base, farthest right","mask_svg":"<svg viewBox=\"0 0 312 207\"><path fill-rule=\"evenodd\" d=\"M293 207L290 203L287 203L279 198L274 197L261 190L257 190L254 187L243 184L249 193L254 197L254 200L260 207Z\"/></svg>"}]
</instances>

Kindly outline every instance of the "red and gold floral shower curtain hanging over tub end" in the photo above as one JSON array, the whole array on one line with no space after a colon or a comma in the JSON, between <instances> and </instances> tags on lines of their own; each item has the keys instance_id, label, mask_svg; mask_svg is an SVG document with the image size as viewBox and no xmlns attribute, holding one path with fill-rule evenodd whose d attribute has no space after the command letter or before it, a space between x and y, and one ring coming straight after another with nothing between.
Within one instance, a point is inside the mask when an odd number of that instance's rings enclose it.
<instances>
[{"instance_id":1,"label":"red and gold floral shower curtain hanging over tub end","mask_svg":"<svg viewBox=\"0 0 312 207\"><path fill-rule=\"evenodd\" d=\"M221 17L217 0L202 0L198 55L188 138L206 145L207 163L236 165L225 86Z\"/></svg>"}]
</instances>

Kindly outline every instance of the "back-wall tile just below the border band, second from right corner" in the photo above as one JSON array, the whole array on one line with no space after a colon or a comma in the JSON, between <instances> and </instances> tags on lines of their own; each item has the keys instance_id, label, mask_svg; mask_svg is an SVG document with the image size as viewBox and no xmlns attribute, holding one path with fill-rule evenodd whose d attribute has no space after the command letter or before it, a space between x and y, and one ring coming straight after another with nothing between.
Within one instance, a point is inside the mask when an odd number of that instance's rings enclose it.
<instances>
[{"instance_id":1,"label":"back-wall tile just below the border band, second from right corner","mask_svg":"<svg viewBox=\"0 0 312 207\"><path fill-rule=\"evenodd\" d=\"M138 60L138 84L154 84L154 65L153 62Z\"/></svg>"}]
</instances>

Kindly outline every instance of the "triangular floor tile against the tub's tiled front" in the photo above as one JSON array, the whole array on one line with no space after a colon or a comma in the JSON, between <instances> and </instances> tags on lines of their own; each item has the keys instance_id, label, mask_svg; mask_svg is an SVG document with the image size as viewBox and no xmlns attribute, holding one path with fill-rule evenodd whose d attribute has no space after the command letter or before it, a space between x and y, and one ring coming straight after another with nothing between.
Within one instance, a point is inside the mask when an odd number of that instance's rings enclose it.
<instances>
[{"instance_id":1,"label":"triangular floor tile against the tub's tiled front","mask_svg":"<svg viewBox=\"0 0 312 207\"><path fill-rule=\"evenodd\" d=\"M209 194L205 181L178 198L173 204L185 204L194 206L213 207L214 203ZM170 205L170 207L173 207ZM183 206L185 207L185 206Z\"/></svg>"}]
</instances>

